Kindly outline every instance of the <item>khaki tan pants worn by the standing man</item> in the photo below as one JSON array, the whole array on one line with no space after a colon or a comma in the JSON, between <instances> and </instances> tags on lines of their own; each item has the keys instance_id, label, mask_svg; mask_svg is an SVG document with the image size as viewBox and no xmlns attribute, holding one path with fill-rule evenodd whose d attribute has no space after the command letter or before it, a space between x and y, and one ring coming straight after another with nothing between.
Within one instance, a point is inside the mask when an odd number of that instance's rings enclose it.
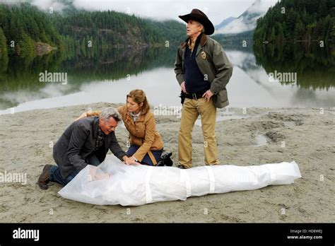
<instances>
[{"instance_id":1,"label":"khaki tan pants worn by the standing man","mask_svg":"<svg viewBox=\"0 0 335 246\"><path fill-rule=\"evenodd\" d=\"M178 160L185 168L192 167L192 129L198 116L201 116L201 128L204 134L205 164L219 163L216 147L216 107L212 98L209 102L205 98L193 100L186 98L182 107L182 120L178 135Z\"/></svg>"}]
</instances>

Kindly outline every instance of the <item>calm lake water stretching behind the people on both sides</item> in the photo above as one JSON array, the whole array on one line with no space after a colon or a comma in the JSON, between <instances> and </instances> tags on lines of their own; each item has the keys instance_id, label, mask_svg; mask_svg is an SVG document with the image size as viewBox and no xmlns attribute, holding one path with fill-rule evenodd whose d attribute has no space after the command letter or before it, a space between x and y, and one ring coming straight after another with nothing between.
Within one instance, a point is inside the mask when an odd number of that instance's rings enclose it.
<instances>
[{"instance_id":1,"label":"calm lake water stretching behind the people on both sides","mask_svg":"<svg viewBox=\"0 0 335 246\"><path fill-rule=\"evenodd\" d=\"M317 59L311 65L310 58L295 61L284 56L278 60L276 52L273 59L267 57L266 51L225 52L234 65L227 86L229 107L335 107L331 52L325 54L326 65ZM173 71L175 50L62 61L57 60L56 54L49 56L48 64L39 57L28 66L16 64L11 70L8 65L7 74L0 76L0 115L93 102L125 102L127 93L134 88L146 91L153 105L180 105L180 86ZM53 63L57 66L50 65ZM302 64L310 67L303 65L305 70L300 69ZM45 71L66 73L66 84L41 82L40 73Z\"/></svg>"}]
</instances>

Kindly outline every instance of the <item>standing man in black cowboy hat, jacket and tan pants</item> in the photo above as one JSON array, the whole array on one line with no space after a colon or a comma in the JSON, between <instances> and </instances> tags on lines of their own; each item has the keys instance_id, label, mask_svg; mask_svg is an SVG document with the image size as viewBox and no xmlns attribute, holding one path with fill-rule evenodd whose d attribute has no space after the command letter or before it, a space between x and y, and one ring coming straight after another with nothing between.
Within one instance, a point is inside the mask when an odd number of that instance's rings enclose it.
<instances>
[{"instance_id":1,"label":"standing man in black cowboy hat, jacket and tan pants","mask_svg":"<svg viewBox=\"0 0 335 246\"><path fill-rule=\"evenodd\" d=\"M216 148L216 107L228 106L225 86L233 73L221 45L207 37L214 26L199 9L179 16L187 23L187 40L182 42L175 61L175 74L184 92L182 119L178 135L179 168L192 167L192 129L201 116L205 164L219 163Z\"/></svg>"}]
</instances>

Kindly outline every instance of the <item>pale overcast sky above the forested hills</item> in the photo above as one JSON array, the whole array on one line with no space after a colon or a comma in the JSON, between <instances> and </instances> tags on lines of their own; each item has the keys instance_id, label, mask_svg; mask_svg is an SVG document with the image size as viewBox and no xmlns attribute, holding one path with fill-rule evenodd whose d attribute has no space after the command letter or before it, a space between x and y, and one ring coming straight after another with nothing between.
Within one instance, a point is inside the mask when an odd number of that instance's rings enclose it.
<instances>
[{"instance_id":1,"label":"pale overcast sky above the forested hills","mask_svg":"<svg viewBox=\"0 0 335 246\"><path fill-rule=\"evenodd\" d=\"M41 9L61 10L64 5L59 0L0 0L6 3L30 1ZM73 0L76 8L90 11L114 10L124 13L134 13L136 16L155 18L157 20L175 19L177 16L191 12L192 8L204 11L214 25L218 25L230 16L238 17L255 0ZM273 0L257 0L273 1Z\"/></svg>"}]
</instances>

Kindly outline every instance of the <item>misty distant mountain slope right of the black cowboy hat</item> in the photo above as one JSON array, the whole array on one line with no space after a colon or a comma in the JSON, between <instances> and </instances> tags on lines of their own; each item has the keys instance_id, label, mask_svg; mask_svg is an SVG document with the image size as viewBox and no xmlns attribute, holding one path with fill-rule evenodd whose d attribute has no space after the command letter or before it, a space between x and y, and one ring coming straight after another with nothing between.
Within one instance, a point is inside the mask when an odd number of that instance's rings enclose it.
<instances>
[{"instance_id":1,"label":"misty distant mountain slope right of the black cowboy hat","mask_svg":"<svg viewBox=\"0 0 335 246\"><path fill-rule=\"evenodd\" d=\"M216 30L215 34L243 33L256 28L258 18L265 15L271 6L278 0L256 0L252 6L242 13L238 18Z\"/></svg>"}]
</instances>

